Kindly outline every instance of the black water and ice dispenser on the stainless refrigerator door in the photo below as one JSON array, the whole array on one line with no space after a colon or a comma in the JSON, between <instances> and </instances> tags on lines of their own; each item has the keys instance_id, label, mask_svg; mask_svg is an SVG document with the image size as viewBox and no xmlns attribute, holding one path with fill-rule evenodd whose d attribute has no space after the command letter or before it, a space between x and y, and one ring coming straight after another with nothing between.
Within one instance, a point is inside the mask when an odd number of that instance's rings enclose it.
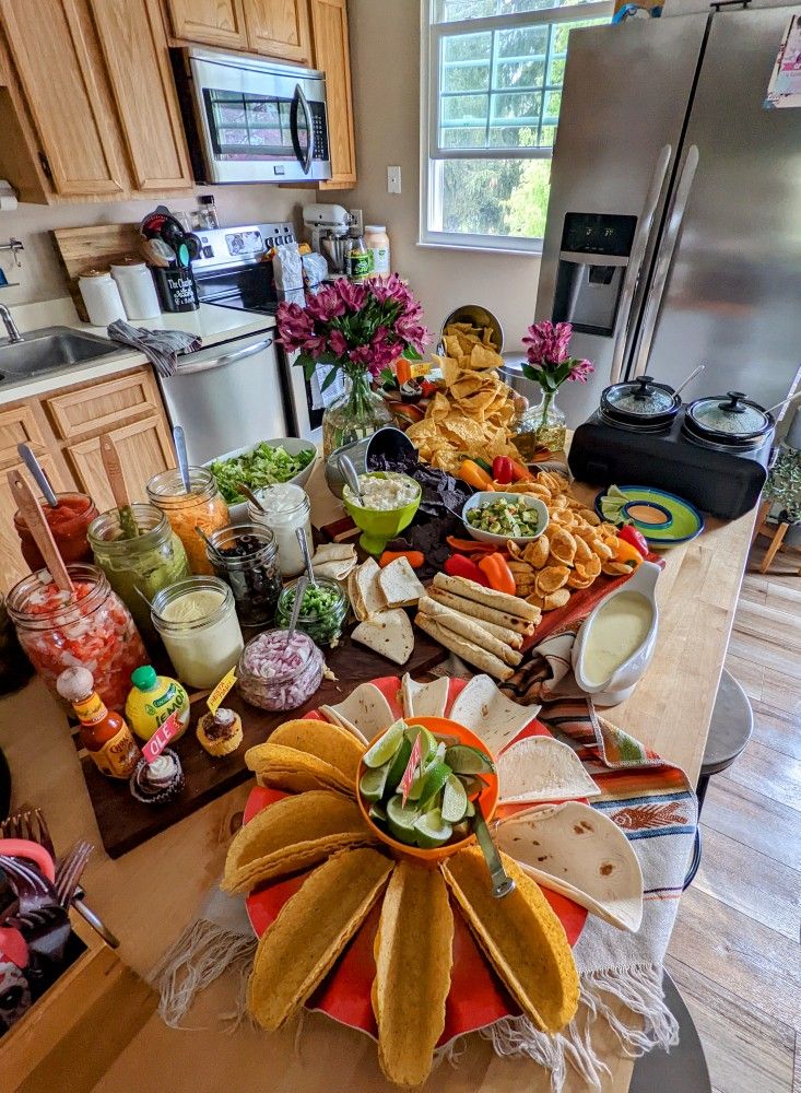
<instances>
[{"instance_id":1,"label":"black water and ice dispenser on the stainless refrigerator door","mask_svg":"<svg viewBox=\"0 0 801 1093\"><path fill-rule=\"evenodd\" d=\"M553 321L611 338L636 216L568 212L562 232Z\"/></svg>"}]
</instances>

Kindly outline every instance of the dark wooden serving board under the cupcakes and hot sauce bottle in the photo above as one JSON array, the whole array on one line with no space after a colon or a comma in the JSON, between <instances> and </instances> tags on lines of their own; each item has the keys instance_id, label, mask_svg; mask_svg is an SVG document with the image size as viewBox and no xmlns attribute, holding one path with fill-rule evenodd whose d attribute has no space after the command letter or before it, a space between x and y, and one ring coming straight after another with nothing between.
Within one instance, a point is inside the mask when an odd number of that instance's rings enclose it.
<instances>
[{"instance_id":1,"label":"dark wooden serving board under the cupcakes and hot sauce bottle","mask_svg":"<svg viewBox=\"0 0 801 1093\"><path fill-rule=\"evenodd\" d=\"M144 804L138 801L131 796L127 781L104 777L84 752L81 767L108 856L119 858L153 835L197 812L209 801L247 781L252 775L245 766L245 752L254 744L263 743L272 730L288 718L303 717L304 713L323 704L341 702L365 680L401 672L421 675L447 657L447 649L416 630L414 653L402 668L365 646L357 645L350 637L343 637L340 645L326 656L326 663L337 675L337 682L323 679L319 690L298 709L272 714L249 706L242 700L236 687L228 693L224 704L242 717L245 739L233 754L223 759L212 759L198 743L195 726L198 718L207 712L208 692L192 695L190 727L173 745L180 756L186 785L180 796L167 804Z\"/></svg>"}]
</instances>

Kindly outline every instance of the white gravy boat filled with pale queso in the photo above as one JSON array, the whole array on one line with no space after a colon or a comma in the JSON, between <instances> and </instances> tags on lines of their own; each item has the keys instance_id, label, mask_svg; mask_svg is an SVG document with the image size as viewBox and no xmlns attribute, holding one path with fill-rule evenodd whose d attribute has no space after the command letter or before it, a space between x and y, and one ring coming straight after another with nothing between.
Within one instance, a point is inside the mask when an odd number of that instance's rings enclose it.
<instances>
[{"instance_id":1,"label":"white gravy boat filled with pale queso","mask_svg":"<svg viewBox=\"0 0 801 1093\"><path fill-rule=\"evenodd\" d=\"M640 562L625 585L601 600L578 632L573 671L578 685L599 706L616 706L627 698L653 656L659 573L652 562Z\"/></svg>"}]
</instances>

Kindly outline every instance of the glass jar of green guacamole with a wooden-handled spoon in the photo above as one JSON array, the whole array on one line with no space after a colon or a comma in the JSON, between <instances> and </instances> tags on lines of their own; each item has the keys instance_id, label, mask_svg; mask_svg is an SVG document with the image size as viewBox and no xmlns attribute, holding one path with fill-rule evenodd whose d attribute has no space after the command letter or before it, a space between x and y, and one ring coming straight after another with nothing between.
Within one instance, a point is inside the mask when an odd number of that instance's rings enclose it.
<instances>
[{"instance_id":1,"label":"glass jar of green guacamole with a wooden-handled spoon","mask_svg":"<svg viewBox=\"0 0 801 1093\"><path fill-rule=\"evenodd\" d=\"M111 508L92 521L87 536L95 563L127 603L145 640L157 639L142 596L152 600L162 588L189 576L184 543L167 517L155 505Z\"/></svg>"}]
</instances>

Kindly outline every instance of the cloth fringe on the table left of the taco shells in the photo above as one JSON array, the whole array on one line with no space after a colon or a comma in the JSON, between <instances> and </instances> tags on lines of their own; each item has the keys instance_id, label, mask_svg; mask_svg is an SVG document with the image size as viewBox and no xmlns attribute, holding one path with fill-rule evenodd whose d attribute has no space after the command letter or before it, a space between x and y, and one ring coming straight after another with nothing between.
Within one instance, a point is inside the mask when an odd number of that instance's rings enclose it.
<instances>
[{"instance_id":1,"label":"cloth fringe on the table left of the taco shells","mask_svg":"<svg viewBox=\"0 0 801 1093\"><path fill-rule=\"evenodd\" d=\"M199 991L232 968L239 977L234 1009L220 1018L235 1032L247 1013L247 979L258 941L249 935L233 933L200 919L188 926L148 976L158 991L158 1012L170 1029L180 1022Z\"/></svg>"}]
</instances>

